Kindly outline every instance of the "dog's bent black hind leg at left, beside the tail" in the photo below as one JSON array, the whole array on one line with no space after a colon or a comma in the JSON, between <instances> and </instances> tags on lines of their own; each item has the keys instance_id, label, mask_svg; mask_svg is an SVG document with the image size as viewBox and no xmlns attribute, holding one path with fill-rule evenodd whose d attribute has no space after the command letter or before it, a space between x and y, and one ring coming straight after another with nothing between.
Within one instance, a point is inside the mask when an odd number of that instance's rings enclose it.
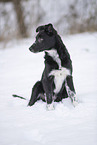
<instances>
[{"instance_id":1,"label":"dog's bent black hind leg at left, beside the tail","mask_svg":"<svg viewBox=\"0 0 97 145\"><path fill-rule=\"evenodd\" d=\"M30 98L30 101L28 103L28 106L34 105L34 103L40 99L39 96L43 95L43 94L44 94L44 90L43 90L42 82L38 81L38 82L36 82L36 84L32 88L32 94L31 94L31 98Z\"/></svg>"}]
</instances>

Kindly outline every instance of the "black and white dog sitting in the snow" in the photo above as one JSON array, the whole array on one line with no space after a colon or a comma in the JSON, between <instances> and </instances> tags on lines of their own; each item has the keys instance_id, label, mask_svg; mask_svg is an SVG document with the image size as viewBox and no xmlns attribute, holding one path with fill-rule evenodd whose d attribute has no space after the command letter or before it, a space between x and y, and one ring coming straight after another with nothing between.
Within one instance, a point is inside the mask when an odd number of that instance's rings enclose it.
<instances>
[{"instance_id":1,"label":"black and white dog sitting in the snow","mask_svg":"<svg viewBox=\"0 0 97 145\"><path fill-rule=\"evenodd\" d=\"M54 109L53 102L70 97L78 104L72 78L72 61L52 24L39 26L35 43L29 48L33 53L45 52L45 68L40 81L32 88L29 106L37 100L47 102L47 109Z\"/></svg>"}]
</instances>

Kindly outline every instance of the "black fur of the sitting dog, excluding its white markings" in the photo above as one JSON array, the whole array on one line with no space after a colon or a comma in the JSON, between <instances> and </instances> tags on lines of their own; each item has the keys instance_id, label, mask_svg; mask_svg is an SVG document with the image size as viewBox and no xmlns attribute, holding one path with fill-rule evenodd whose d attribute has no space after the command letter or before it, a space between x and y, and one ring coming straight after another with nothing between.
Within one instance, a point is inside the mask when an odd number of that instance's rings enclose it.
<instances>
[{"instance_id":1,"label":"black fur of the sitting dog, excluding its white markings","mask_svg":"<svg viewBox=\"0 0 97 145\"><path fill-rule=\"evenodd\" d=\"M45 51L45 68L42 74L42 78L39 82L36 82L32 89L31 99L29 106L32 106L38 99L46 101L47 104L51 104L52 101L61 101L63 98L68 97L68 93L65 86L65 81L70 90L75 94L75 89L72 80L72 61L70 55L63 44L57 31L53 28L52 24L43 25L36 29L38 32L35 43L29 48L31 52L38 53ZM52 70L59 70L58 63L51 57L46 50L56 49L61 60L61 66L70 70L71 75L67 76L64 80L60 91L55 94L54 76L49 76Z\"/></svg>"}]
</instances>

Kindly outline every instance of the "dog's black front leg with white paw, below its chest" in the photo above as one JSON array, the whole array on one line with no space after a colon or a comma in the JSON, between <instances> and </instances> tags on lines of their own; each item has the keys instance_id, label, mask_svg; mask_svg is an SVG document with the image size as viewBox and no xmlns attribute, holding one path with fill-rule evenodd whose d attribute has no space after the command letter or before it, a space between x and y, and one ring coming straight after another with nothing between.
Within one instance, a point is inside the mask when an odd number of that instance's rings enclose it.
<instances>
[{"instance_id":1,"label":"dog's black front leg with white paw, below its chest","mask_svg":"<svg viewBox=\"0 0 97 145\"><path fill-rule=\"evenodd\" d=\"M54 78L48 77L43 79L43 88L46 93L47 110L54 110L53 105L53 90L54 90Z\"/></svg>"}]
</instances>

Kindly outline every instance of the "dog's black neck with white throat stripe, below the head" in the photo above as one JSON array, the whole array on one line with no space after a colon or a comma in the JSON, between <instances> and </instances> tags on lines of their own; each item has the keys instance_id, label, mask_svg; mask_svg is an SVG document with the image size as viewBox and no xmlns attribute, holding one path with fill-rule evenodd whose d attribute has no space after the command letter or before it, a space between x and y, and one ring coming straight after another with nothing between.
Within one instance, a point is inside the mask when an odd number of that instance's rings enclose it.
<instances>
[{"instance_id":1,"label":"dog's black neck with white throat stripe, below the head","mask_svg":"<svg viewBox=\"0 0 97 145\"><path fill-rule=\"evenodd\" d=\"M51 57L52 63L53 61L57 63L59 69L62 66L68 68L71 63L70 55L59 35L56 37L55 47L51 50L45 50L45 62L51 64L50 59L48 59L49 56Z\"/></svg>"}]
</instances>

